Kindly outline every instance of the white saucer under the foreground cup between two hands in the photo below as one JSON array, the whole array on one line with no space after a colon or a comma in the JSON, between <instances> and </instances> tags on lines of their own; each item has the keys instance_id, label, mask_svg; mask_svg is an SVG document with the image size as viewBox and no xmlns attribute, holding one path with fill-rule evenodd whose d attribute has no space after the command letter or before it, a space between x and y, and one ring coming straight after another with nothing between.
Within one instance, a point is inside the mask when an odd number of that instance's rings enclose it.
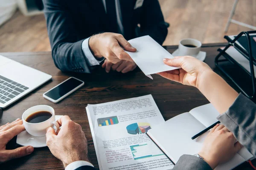
<instances>
[{"instance_id":1,"label":"white saucer under the foreground cup between two hands","mask_svg":"<svg viewBox=\"0 0 256 170\"><path fill-rule=\"evenodd\" d=\"M55 121L61 118L62 115L56 115ZM46 137L36 137L32 136L27 131L23 131L17 136L16 140L17 144L20 144L22 146L32 146L32 147L46 147Z\"/></svg>"}]
</instances>

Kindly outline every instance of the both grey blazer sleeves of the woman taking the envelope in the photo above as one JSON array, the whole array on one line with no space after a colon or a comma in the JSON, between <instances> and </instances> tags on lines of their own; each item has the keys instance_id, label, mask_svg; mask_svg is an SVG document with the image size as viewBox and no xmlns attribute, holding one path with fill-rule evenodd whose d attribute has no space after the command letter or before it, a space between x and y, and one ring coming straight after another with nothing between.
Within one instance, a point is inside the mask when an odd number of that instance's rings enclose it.
<instances>
[{"instance_id":1,"label":"both grey blazer sleeves of the woman taking the envelope","mask_svg":"<svg viewBox=\"0 0 256 170\"><path fill-rule=\"evenodd\" d=\"M227 112L217 119L230 130L236 139L256 156L256 104L239 94ZM173 170L211 170L208 164L195 156L183 155Z\"/></svg>"}]
</instances>

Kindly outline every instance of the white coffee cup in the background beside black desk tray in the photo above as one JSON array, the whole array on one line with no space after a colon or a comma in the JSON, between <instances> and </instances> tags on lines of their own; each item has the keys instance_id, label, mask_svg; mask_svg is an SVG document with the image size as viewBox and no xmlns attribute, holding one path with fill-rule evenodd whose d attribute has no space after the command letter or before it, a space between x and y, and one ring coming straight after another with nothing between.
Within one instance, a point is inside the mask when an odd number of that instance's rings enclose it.
<instances>
[{"instance_id":1,"label":"white coffee cup in the background beside black desk tray","mask_svg":"<svg viewBox=\"0 0 256 170\"><path fill-rule=\"evenodd\" d=\"M195 47L186 47L185 45L195 45ZM192 56L197 57L201 50L202 43L198 40L187 38L180 40L179 43L179 56Z\"/></svg>"}]
</instances>

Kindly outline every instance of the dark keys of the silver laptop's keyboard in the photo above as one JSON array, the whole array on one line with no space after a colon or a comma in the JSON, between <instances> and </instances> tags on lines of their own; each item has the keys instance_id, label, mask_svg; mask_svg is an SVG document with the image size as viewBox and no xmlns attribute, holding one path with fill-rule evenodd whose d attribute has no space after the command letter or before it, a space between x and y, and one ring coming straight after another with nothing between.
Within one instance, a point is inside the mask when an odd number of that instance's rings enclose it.
<instances>
[{"instance_id":1,"label":"dark keys of the silver laptop's keyboard","mask_svg":"<svg viewBox=\"0 0 256 170\"><path fill-rule=\"evenodd\" d=\"M29 88L0 75L0 103L5 104Z\"/></svg>"}]
</instances>

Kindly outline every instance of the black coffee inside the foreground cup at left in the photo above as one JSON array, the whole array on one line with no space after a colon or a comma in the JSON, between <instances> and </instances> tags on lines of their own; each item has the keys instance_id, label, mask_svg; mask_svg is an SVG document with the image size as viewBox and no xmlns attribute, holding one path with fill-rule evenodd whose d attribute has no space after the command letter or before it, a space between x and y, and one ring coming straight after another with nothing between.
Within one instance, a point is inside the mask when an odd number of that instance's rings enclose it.
<instances>
[{"instance_id":1,"label":"black coffee inside the foreground cup at left","mask_svg":"<svg viewBox=\"0 0 256 170\"><path fill-rule=\"evenodd\" d=\"M38 111L29 115L25 121L29 123L40 123L50 119L51 117L52 113L48 111Z\"/></svg>"}]
</instances>

